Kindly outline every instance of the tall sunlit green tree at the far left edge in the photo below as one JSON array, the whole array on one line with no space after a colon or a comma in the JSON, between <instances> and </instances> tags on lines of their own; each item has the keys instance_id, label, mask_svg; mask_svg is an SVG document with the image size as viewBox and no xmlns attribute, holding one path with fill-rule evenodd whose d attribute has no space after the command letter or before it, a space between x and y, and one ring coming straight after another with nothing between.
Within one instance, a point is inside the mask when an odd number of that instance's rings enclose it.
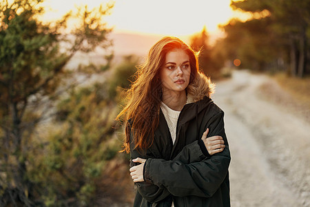
<instances>
[{"instance_id":1,"label":"tall sunlit green tree at the far left edge","mask_svg":"<svg viewBox=\"0 0 310 207\"><path fill-rule=\"evenodd\" d=\"M101 17L112 6L81 8L53 25L37 19L44 12L41 3L0 3L0 206L43 205L28 173L34 167L33 152L44 148L42 140L34 139L37 126L50 116L59 92L70 85L63 81L71 75L66 63L76 52L110 44L110 29ZM78 17L81 24L65 34L70 17Z\"/></svg>"}]
</instances>

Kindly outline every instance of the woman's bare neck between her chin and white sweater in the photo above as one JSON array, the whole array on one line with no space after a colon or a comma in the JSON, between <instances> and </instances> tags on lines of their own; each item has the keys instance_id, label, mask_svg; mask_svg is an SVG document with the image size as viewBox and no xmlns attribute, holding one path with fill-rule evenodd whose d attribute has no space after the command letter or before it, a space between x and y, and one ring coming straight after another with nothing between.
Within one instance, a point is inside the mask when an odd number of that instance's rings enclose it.
<instances>
[{"instance_id":1,"label":"woman's bare neck between her chin and white sweater","mask_svg":"<svg viewBox=\"0 0 310 207\"><path fill-rule=\"evenodd\" d=\"M163 92L163 103L173 110L182 110L183 106L187 101L186 92L183 91L164 91Z\"/></svg>"}]
</instances>

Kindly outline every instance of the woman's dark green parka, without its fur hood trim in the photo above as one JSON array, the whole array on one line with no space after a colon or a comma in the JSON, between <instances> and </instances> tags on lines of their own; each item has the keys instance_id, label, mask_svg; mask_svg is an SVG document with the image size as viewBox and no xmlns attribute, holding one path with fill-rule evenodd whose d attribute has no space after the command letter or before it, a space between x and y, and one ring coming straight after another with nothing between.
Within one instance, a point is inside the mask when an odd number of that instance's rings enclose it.
<instances>
[{"instance_id":1,"label":"woman's dark green parka, without its fur hood trim","mask_svg":"<svg viewBox=\"0 0 310 207\"><path fill-rule=\"evenodd\" d=\"M176 141L160 111L154 143L145 153L134 149L130 133L131 159L147 159L143 182L136 183L134 206L230 206L228 167L230 153L224 129L224 112L205 97L187 103L180 112ZM130 127L130 126L129 126ZM223 152L205 156L198 139L219 135L225 141ZM130 166L136 163L130 162Z\"/></svg>"}]
</instances>

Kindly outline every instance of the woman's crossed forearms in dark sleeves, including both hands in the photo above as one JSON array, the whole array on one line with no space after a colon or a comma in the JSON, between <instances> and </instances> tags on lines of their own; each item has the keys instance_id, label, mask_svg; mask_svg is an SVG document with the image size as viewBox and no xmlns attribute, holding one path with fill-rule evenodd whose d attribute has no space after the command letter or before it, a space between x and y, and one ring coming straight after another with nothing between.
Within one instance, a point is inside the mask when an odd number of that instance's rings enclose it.
<instances>
[{"instance_id":1,"label":"woman's crossed forearms in dark sleeves, including both hands","mask_svg":"<svg viewBox=\"0 0 310 207\"><path fill-rule=\"evenodd\" d=\"M211 197L225 179L230 162L229 147L224 130L223 114L216 115L209 125L211 135L222 137L225 148L217 146L223 141L207 138L202 139L211 157L203 156L197 141L189 144L173 160L149 158L141 159L136 153L132 158L143 163L130 170L138 187L139 193L150 202L161 201L167 195ZM212 141L211 141L212 140ZM211 143L215 141L214 143ZM209 144L208 144L209 143ZM217 152L219 151L219 152ZM215 153L215 154L214 154ZM145 178L143 179L143 167ZM140 173L140 174L139 174ZM138 181L142 179L145 181ZM178 176L175 176L178 175Z\"/></svg>"}]
</instances>

